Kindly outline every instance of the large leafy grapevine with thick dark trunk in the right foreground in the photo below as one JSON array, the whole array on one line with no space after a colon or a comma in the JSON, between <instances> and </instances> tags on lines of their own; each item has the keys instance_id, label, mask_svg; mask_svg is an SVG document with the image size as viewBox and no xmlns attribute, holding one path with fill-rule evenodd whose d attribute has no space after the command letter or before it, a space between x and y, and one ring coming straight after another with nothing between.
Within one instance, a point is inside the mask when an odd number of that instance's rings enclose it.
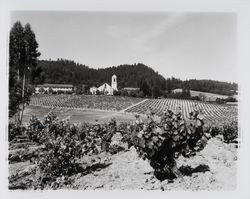
<instances>
[{"instance_id":1,"label":"large leafy grapevine with thick dark trunk in the right foreground","mask_svg":"<svg viewBox=\"0 0 250 199\"><path fill-rule=\"evenodd\" d=\"M203 138L203 115L199 111L190 113L185 121L180 111L168 110L157 122L154 114L142 123L139 117L130 136L139 156L148 159L160 180L181 176L176 166L179 155L189 157L201 150Z\"/></svg>"}]
</instances>

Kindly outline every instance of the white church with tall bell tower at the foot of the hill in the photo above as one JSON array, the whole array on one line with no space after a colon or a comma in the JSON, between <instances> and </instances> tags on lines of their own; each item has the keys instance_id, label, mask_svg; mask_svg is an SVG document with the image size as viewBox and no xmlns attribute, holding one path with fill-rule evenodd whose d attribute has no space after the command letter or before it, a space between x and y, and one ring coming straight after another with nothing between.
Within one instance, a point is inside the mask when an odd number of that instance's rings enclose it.
<instances>
[{"instance_id":1,"label":"white church with tall bell tower at the foot of the hill","mask_svg":"<svg viewBox=\"0 0 250 199\"><path fill-rule=\"evenodd\" d=\"M116 75L113 75L111 78L111 86L108 83L104 83L103 85L90 88L90 93L92 95L96 95L96 92L99 91L100 93L104 95L113 95L114 91L117 91L117 77Z\"/></svg>"}]
</instances>

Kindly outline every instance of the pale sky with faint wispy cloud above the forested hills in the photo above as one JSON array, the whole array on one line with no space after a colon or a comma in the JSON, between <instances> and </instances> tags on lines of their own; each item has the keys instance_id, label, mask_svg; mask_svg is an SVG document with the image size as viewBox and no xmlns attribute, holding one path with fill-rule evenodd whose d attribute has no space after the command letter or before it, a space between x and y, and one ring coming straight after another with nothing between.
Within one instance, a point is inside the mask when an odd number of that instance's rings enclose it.
<instances>
[{"instance_id":1,"label":"pale sky with faint wispy cloud above the forested hills","mask_svg":"<svg viewBox=\"0 0 250 199\"><path fill-rule=\"evenodd\" d=\"M144 63L165 78L237 82L234 13L14 11L30 23L39 59L92 68Z\"/></svg>"}]
</instances>

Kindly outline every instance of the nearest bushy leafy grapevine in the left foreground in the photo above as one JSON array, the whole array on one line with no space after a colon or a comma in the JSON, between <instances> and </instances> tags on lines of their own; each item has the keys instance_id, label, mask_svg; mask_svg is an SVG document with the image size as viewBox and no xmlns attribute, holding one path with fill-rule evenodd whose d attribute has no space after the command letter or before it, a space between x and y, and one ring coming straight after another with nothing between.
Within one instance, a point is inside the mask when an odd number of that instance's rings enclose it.
<instances>
[{"instance_id":1,"label":"nearest bushy leafy grapevine in the left foreground","mask_svg":"<svg viewBox=\"0 0 250 199\"><path fill-rule=\"evenodd\" d=\"M77 159L81 155L81 146L71 136L72 127L64 122L56 122L51 126L51 128L54 127L58 130L50 135L50 139L45 143L47 153L38 164L43 178L50 181L54 181L56 177L77 172L79 169Z\"/></svg>"}]
</instances>

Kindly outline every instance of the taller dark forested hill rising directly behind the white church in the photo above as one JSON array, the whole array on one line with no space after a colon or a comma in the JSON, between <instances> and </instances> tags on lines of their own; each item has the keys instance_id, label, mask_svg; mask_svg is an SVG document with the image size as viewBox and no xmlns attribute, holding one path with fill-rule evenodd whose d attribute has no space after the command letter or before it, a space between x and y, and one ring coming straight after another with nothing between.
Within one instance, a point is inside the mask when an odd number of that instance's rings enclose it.
<instances>
[{"instance_id":1,"label":"taller dark forested hill rising directly behind the white church","mask_svg":"<svg viewBox=\"0 0 250 199\"><path fill-rule=\"evenodd\" d=\"M36 83L67 83L99 86L111 84L113 74L117 76L118 87L139 87L141 81L165 90L166 80L152 68L144 64L120 65L117 67L93 69L68 60L38 61L40 78Z\"/></svg>"}]
</instances>

